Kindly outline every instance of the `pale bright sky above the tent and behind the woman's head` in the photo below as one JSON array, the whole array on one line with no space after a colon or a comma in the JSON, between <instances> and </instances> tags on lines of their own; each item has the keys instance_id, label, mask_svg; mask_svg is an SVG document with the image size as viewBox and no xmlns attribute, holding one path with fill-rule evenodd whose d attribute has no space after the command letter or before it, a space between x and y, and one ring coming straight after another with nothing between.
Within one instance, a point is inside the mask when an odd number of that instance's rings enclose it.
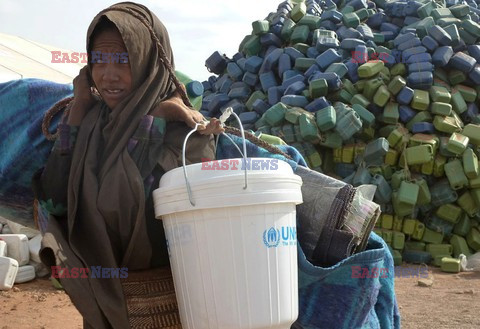
<instances>
[{"instance_id":1,"label":"pale bright sky above the tent and behind the woman's head","mask_svg":"<svg viewBox=\"0 0 480 329\"><path fill-rule=\"evenodd\" d=\"M88 25L109 0L0 0L0 32L84 52ZM202 81L214 52L232 57L252 22L274 12L282 0L143 0L167 27L176 69Z\"/></svg>"}]
</instances>

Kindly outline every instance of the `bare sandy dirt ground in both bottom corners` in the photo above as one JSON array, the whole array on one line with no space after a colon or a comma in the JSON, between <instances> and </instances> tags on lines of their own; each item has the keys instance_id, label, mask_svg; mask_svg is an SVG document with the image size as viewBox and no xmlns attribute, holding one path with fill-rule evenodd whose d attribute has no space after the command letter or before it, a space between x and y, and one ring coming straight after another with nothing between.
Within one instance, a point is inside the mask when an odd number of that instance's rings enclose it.
<instances>
[{"instance_id":1,"label":"bare sandy dirt ground in both bottom corners","mask_svg":"<svg viewBox=\"0 0 480 329\"><path fill-rule=\"evenodd\" d=\"M429 268L429 279L431 287L419 286L418 277L395 279L402 328L480 328L480 272L449 274ZM82 318L69 297L47 279L0 292L0 329L31 328L82 328Z\"/></svg>"}]
</instances>

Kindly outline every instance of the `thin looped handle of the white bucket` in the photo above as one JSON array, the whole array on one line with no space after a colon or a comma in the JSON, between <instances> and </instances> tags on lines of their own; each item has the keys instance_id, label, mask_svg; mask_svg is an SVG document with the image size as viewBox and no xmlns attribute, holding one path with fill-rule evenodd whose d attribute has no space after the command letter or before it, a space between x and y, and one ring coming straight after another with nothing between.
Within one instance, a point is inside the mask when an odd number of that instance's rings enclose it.
<instances>
[{"instance_id":1,"label":"thin looped handle of the white bucket","mask_svg":"<svg viewBox=\"0 0 480 329\"><path fill-rule=\"evenodd\" d=\"M232 143L233 145L235 145L235 147L238 149L238 152L240 152L240 154L242 155L243 157L243 163L244 163L244 166L245 166L245 169L244 169L244 172L245 172L245 186L243 187L244 190L247 189L247 186L248 186L248 179L247 179L247 143L246 143L246 139L245 139L245 131L243 130L243 125L242 125L242 122L240 120L240 118L238 117L238 115L233 111L233 108L232 107L228 107L224 112L223 114L220 116L219 120L221 122L221 125L223 126L225 121L231 116L233 115L237 121L238 121L238 124L240 125L240 131L242 133L242 139L243 139L243 152L240 150L240 148L238 147L237 144L235 144L235 142L232 140L232 138L230 136L228 136L227 134L225 133L222 133L223 136L227 137ZM207 124L208 122L207 121L204 121L204 122L201 122L201 123L196 123L195 124L195 127L187 134L187 136L185 137L185 140L183 141L183 149L182 149L182 164L183 164L183 176L185 177L185 184L187 185L187 192L188 192L188 198L190 200L190 204L195 207L195 201L193 200L193 195L192 195L192 188L190 187L190 181L188 180L188 175L187 175L187 167L185 165L185 152L186 152L186 148L187 148L187 141L188 141L188 138L190 138L190 136L197 131L198 127L202 124Z\"/></svg>"}]
</instances>

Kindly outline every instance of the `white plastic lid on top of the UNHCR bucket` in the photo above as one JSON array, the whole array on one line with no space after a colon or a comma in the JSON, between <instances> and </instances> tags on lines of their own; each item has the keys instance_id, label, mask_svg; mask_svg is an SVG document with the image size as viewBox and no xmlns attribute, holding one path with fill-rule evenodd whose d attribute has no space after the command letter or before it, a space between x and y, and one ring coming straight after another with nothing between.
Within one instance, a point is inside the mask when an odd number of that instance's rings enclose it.
<instances>
[{"instance_id":1,"label":"white plastic lid on top of the UNHCR bucket","mask_svg":"<svg viewBox=\"0 0 480 329\"><path fill-rule=\"evenodd\" d=\"M248 183L245 189L245 167ZM175 212L268 203L302 203L302 179L278 159L215 160L186 166L195 206L190 203L183 168L165 173L153 191L155 216Z\"/></svg>"}]
</instances>

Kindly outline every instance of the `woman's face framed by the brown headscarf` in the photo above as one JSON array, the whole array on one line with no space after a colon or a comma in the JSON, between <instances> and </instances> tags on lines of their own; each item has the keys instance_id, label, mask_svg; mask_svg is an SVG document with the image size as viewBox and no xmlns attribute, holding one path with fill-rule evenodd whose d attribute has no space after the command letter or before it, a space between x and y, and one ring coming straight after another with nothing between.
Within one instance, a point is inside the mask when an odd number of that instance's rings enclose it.
<instances>
[{"instance_id":1,"label":"woman's face framed by the brown headscarf","mask_svg":"<svg viewBox=\"0 0 480 329\"><path fill-rule=\"evenodd\" d=\"M108 107L114 109L132 91L127 48L117 29L107 29L95 36L91 60L93 82Z\"/></svg>"}]
</instances>

